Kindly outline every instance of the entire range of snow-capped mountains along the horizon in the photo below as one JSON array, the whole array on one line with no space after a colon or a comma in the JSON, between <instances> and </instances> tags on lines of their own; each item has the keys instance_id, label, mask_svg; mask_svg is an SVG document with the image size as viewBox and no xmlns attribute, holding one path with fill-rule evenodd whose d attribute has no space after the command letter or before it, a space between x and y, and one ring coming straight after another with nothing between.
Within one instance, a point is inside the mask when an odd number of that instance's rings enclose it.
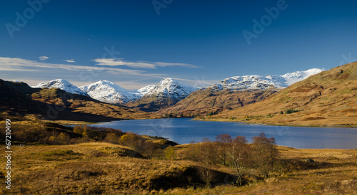
<instances>
[{"instance_id":1,"label":"entire range of snow-capped mountains along the horizon","mask_svg":"<svg viewBox=\"0 0 357 195\"><path fill-rule=\"evenodd\" d=\"M320 73L324 69L313 68L310 70L287 73L285 75L246 75L226 78L216 84L208 86L216 91L220 90L267 90L268 88L286 88L291 83L308 78L308 76ZM112 104L128 104L139 110L157 111L164 107L176 104L185 99L193 91L189 85L179 83L171 78L161 80L156 85L147 85L139 90L126 90L108 80L100 80L96 83L76 87L66 80L56 79L46 83L39 83L32 88L59 88L68 93L89 95L95 100Z\"/></svg>"}]
</instances>

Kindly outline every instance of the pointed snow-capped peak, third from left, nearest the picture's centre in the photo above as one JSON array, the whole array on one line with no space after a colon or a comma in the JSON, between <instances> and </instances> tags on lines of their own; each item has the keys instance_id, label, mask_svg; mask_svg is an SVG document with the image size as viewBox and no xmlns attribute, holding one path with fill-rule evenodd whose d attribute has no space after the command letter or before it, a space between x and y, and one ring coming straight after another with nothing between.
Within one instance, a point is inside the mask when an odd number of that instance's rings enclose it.
<instances>
[{"instance_id":1,"label":"pointed snow-capped peak, third from left, nearest the picture's centre","mask_svg":"<svg viewBox=\"0 0 357 195\"><path fill-rule=\"evenodd\" d=\"M182 100L198 88L193 88L183 83L178 83L172 78L161 80L157 85L145 87L146 96L156 95L157 97L170 97L172 100ZM142 88L141 88L142 89ZM143 91L143 90L142 90Z\"/></svg>"}]
</instances>

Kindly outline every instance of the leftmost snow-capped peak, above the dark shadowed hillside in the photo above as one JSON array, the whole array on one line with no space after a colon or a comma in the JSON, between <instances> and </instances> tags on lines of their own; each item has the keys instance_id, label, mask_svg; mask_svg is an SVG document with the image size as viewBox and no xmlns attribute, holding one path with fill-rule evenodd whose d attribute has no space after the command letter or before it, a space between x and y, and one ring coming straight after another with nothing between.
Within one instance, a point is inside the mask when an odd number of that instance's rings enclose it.
<instances>
[{"instance_id":1,"label":"leftmost snow-capped peak, above the dark shadowed hillside","mask_svg":"<svg viewBox=\"0 0 357 195\"><path fill-rule=\"evenodd\" d=\"M31 86L31 88L60 88L68 93L77 93L79 95L88 95L83 90L79 89L75 85L72 85L67 80L56 79L49 82L39 83Z\"/></svg>"}]
</instances>

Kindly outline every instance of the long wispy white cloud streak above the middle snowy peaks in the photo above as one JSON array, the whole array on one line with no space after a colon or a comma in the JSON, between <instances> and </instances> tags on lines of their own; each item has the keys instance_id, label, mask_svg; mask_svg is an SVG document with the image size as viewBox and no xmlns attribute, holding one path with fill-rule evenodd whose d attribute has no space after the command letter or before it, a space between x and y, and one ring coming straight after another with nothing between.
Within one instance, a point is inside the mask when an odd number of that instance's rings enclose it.
<instances>
[{"instance_id":1,"label":"long wispy white cloud streak above the middle snowy peaks","mask_svg":"<svg viewBox=\"0 0 357 195\"><path fill-rule=\"evenodd\" d=\"M188 68L198 68L196 65L191 65L188 63L162 63L162 62L128 62L123 58L97 58L93 60L98 63L98 65L108 65L108 66L119 66L126 65L131 68L156 68L156 67L165 67L165 66L183 66Z\"/></svg>"}]
</instances>

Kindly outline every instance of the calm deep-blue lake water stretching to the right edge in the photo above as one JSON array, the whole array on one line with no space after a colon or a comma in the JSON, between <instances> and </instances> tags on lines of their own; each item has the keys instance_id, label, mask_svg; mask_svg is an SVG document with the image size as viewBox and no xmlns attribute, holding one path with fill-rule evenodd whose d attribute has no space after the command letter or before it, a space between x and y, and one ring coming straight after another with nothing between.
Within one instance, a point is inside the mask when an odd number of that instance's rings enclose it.
<instances>
[{"instance_id":1,"label":"calm deep-blue lake water stretching to the right edge","mask_svg":"<svg viewBox=\"0 0 357 195\"><path fill-rule=\"evenodd\" d=\"M253 136L264 132L266 137L275 137L276 144L295 148L357 148L356 128L284 127L265 125L241 125L234 122L210 122L190 119L120 120L101 122L92 126L111 127L139 135L166 137L178 144L203 138L216 140L218 134L245 136L251 142Z\"/></svg>"}]
</instances>

